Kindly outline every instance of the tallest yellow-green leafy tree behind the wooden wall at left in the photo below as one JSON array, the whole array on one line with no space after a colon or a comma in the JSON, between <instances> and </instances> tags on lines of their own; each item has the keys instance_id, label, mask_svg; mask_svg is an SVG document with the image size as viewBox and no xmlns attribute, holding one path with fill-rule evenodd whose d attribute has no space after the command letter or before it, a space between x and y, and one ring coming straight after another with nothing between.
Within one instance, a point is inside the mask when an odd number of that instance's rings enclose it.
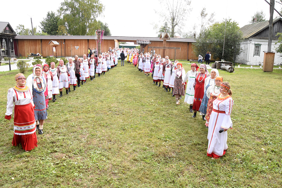
<instances>
[{"instance_id":1,"label":"tallest yellow-green leafy tree behind the wooden wall at left","mask_svg":"<svg viewBox=\"0 0 282 188\"><path fill-rule=\"evenodd\" d=\"M58 10L59 24L65 25L71 35L94 35L91 25L97 24L96 18L103 10L100 0L64 0Z\"/></svg>"}]
</instances>

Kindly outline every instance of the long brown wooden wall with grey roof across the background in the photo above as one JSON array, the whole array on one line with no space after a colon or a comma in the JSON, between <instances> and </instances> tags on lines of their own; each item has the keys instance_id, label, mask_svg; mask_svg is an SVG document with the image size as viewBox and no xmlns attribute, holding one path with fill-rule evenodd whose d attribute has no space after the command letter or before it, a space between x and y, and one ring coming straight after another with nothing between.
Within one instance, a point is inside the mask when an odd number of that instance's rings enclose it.
<instances>
[{"instance_id":1,"label":"long brown wooden wall with grey roof across the background","mask_svg":"<svg viewBox=\"0 0 282 188\"><path fill-rule=\"evenodd\" d=\"M57 56L74 57L78 55L82 57L83 54L87 54L89 48L97 48L97 36L60 36L60 35L18 35L16 36L16 46L18 56L26 56L29 53L39 53L43 57L52 55L52 46L48 45L50 40L54 40L60 43L57 46ZM162 47L163 40L158 37L122 37L122 36L103 36L101 43L102 51L107 52L109 47L118 48L118 42L137 42L146 41L142 45L144 52L150 52L148 49L150 46ZM167 41L166 47L180 47L180 50L176 50L176 59L178 60L198 60L198 55L194 54L193 43L196 39L185 38L171 38ZM162 55L162 49L155 49L156 54ZM175 50L167 49L166 55L170 59L174 59Z\"/></svg>"}]
</instances>

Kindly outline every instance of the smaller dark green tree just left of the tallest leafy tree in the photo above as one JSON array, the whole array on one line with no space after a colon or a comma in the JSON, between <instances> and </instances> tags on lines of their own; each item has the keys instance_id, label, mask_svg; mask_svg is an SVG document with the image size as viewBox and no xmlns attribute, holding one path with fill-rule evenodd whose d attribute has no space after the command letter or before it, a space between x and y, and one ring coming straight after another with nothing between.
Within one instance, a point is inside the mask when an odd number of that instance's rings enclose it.
<instances>
[{"instance_id":1,"label":"smaller dark green tree just left of the tallest leafy tree","mask_svg":"<svg viewBox=\"0 0 282 188\"><path fill-rule=\"evenodd\" d=\"M40 22L40 29L49 35L57 35L59 20L60 17L57 16L53 11L48 12L46 18Z\"/></svg>"}]
</instances>

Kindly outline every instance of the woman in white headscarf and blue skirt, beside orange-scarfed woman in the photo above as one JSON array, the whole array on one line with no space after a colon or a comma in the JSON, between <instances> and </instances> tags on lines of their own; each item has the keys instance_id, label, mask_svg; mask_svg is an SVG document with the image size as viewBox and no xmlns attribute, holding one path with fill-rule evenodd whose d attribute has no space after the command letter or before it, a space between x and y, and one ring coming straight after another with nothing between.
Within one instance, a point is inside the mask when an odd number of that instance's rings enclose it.
<instances>
[{"instance_id":1,"label":"woman in white headscarf and blue skirt, beside orange-scarfed woman","mask_svg":"<svg viewBox=\"0 0 282 188\"><path fill-rule=\"evenodd\" d=\"M208 103L208 100L209 100L209 98L206 96L206 90L207 90L207 88L209 86L214 85L214 81L215 81L217 76L219 76L218 70L217 69L212 69L211 70L211 76L207 77L206 80L205 80L204 96L203 96L203 100L201 102L201 106L199 108L200 115L202 115L202 118L203 118L204 121L206 121L205 115L206 115L207 103Z\"/></svg>"}]
</instances>

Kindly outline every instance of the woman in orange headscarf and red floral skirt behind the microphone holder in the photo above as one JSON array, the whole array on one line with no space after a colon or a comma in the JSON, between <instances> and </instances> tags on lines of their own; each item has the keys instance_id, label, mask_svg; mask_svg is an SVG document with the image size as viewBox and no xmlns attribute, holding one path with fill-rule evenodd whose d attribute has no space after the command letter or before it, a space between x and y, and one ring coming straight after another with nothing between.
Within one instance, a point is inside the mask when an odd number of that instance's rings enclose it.
<instances>
[{"instance_id":1,"label":"woman in orange headscarf and red floral skirt behind the microphone holder","mask_svg":"<svg viewBox=\"0 0 282 188\"><path fill-rule=\"evenodd\" d=\"M223 82L223 78L221 76L217 76L215 79L215 84L209 86L206 90L206 96L208 97L208 105L206 109L206 127L209 127L209 120L212 113L212 105L213 101L219 96L220 85Z\"/></svg>"}]
</instances>

